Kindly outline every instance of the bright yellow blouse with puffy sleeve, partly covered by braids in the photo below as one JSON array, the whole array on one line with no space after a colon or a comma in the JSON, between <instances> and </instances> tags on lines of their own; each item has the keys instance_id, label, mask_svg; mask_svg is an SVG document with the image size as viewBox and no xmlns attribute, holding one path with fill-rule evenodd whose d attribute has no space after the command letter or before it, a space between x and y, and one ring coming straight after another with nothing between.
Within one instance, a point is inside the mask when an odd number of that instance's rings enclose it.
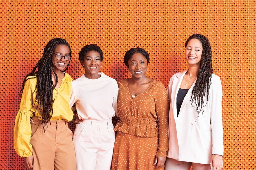
<instances>
[{"instance_id":1,"label":"bright yellow blouse with puffy sleeve, partly covered by braids","mask_svg":"<svg viewBox=\"0 0 256 170\"><path fill-rule=\"evenodd\" d=\"M14 126L14 149L18 155L22 157L32 155L32 145L30 144L30 117L34 114L36 117L41 119L41 112L39 108L37 108L38 103L35 101L37 78L33 77L35 76L28 77L30 79L25 82L20 102L20 109L17 113ZM66 121L71 121L73 119L73 112L69 107L69 100L72 92L72 80L73 79L70 75L65 73L60 88L53 90L54 102L52 106L53 113L51 120L64 119Z\"/></svg>"}]
</instances>

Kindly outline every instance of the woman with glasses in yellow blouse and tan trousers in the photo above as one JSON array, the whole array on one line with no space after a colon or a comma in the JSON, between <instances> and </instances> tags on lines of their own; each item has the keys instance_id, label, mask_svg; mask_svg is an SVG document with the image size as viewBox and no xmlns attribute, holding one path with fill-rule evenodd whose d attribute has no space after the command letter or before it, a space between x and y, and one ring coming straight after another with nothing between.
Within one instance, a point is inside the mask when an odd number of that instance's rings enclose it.
<instances>
[{"instance_id":1,"label":"woman with glasses in yellow blouse and tan trousers","mask_svg":"<svg viewBox=\"0 0 256 170\"><path fill-rule=\"evenodd\" d=\"M33 169L76 169L69 107L71 49L65 39L50 40L42 58L23 81L14 126L14 148ZM30 125L30 118L34 123Z\"/></svg>"}]
</instances>

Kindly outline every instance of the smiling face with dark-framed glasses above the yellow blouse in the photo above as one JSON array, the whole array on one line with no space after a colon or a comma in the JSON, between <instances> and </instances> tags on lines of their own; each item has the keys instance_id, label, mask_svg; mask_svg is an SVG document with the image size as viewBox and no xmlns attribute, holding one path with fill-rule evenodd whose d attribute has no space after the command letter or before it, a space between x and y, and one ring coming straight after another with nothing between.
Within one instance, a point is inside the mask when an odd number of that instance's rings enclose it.
<instances>
[{"instance_id":1,"label":"smiling face with dark-framed glasses above the yellow blouse","mask_svg":"<svg viewBox=\"0 0 256 170\"><path fill-rule=\"evenodd\" d=\"M66 61L64 57L62 57L60 60L56 59L55 54L61 54L62 56L69 55L70 51L68 46L63 44L58 44L51 56L52 60L52 68L55 72L62 71L67 67L67 64L69 61Z\"/></svg>"}]
</instances>

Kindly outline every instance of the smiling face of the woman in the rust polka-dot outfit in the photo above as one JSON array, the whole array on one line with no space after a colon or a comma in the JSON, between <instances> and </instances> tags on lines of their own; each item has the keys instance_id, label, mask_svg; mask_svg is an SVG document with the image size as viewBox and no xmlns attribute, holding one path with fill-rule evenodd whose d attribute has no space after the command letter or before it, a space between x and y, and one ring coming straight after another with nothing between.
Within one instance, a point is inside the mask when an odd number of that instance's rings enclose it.
<instances>
[{"instance_id":1,"label":"smiling face of the woman in the rust polka-dot outfit","mask_svg":"<svg viewBox=\"0 0 256 170\"><path fill-rule=\"evenodd\" d=\"M145 76L147 66L147 59L141 53L133 54L128 60L128 69L133 78L141 78Z\"/></svg>"}]
</instances>

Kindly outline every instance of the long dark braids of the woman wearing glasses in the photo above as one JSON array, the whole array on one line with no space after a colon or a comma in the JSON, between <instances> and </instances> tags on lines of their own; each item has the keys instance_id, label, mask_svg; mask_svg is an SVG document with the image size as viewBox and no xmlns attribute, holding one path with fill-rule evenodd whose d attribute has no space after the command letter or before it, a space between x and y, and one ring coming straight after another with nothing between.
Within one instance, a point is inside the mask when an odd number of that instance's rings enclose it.
<instances>
[{"instance_id":1,"label":"long dark braids of the woman wearing glasses","mask_svg":"<svg viewBox=\"0 0 256 170\"><path fill-rule=\"evenodd\" d=\"M43 129L45 131L45 126L50 121L52 114L51 111L53 111L52 105L53 105L53 89L56 87L58 83L58 76L56 72L53 70L55 77L56 77L56 84L53 84L52 81L52 62L51 62L51 56L54 52L57 45L63 44L68 46L69 48L69 55L71 56L71 48L68 42L65 39L61 38L54 38L51 39L47 45L44 47L44 53L42 58L37 62L36 66L33 68L33 70L26 75L26 77L23 80L23 84L20 90L20 95L23 92L25 82L28 79L36 78L37 77L37 83L36 83L36 98L35 101L38 103L37 108L39 107L39 110L42 113L42 125ZM65 72L68 69L68 66L70 64L70 60L67 64L67 67L63 72ZM36 71L37 69L37 71ZM36 76L28 78L29 76ZM36 91L35 90L35 91ZM35 92L34 91L34 92ZM33 92L33 93L34 93ZM51 122L50 122L51 123Z\"/></svg>"}]
</instances>

